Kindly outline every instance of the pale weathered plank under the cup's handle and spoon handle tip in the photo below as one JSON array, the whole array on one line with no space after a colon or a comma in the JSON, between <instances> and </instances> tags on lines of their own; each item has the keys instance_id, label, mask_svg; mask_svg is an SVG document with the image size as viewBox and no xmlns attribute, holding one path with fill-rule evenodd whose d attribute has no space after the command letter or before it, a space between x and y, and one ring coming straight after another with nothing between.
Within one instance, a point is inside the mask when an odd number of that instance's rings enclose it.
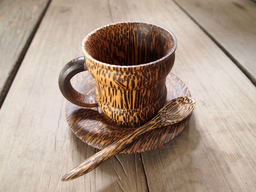
<instances>
[{"instance_id":1,"label":"pale weathered plank under the cup's handle and spoon handle tip","mask_svg":"<svg viewBox=\"0 0 256 192\"><path fill-rule=\"evenodd\" d=\"M69 129L58 76L83 54L84 36L107 23L107 1L51 2L0 110L1 190L148 190L140 154L117 155L84 177L60 180L95 149Z\"/></svg>"}]
</instances>

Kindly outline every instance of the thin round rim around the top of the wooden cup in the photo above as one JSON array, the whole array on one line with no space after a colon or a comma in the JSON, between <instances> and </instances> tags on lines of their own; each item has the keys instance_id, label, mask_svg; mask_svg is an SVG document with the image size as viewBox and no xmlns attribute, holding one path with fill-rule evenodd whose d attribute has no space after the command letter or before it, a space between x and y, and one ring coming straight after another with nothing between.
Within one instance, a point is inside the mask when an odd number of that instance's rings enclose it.
<instances>
[{"instance_id":1,"label":"thin round rim around the top of the wooden cup","mask_svg":"<svg viewBox=\"0 0 256 192\"><path fill-rule=\"evenodd\" d=\"M93 33L95 33L96 31L98 31L102 28L105 28L105 27L108 27L108 26L111 26L111 25L122 24L122 23L144 23L144 24L150 24L150 25L160 27L160 28L164 29L165 31L167 31L169 34L171 34L171 36L173 38L173 41L174 41L173 47L167 54L164 55L164 57L162 57L158 60L151 61L151 62L148 62L148 63L139 64L139 65L125 65L125 66L123 66L123 65L113 65L113 64L104 63L102 61L96 60L85 50L85 48L84 48L85 47L85 42L88 39L88 37L91 36ZM85 36L83 41L82 41L82 51L84 53L84 56L86 56L89 60L91 60L92 62L97 64L99 67L106 68L106 69L109 69L109 70L111 70L111 69L116 70L117 68L119 68L120 70L125 70L127 68L129 70L136 70L136 69L139 69L141 67L150 67L151 68L151 66L152 67L155 66L154 64L159 63L159 62L169 58L170 56L172 56L172 54L175 52L176 48L177 48L177 39L176 39L175 35L169 29L167 29L167 28L165 28L161 25L158 25L158 24L154 24L154 23L150 23L150 22L144 22L144 21L121 21L121 22L111 23L111 24L102 26L100 28L94 29L91 33L89 33L87 36Z\"/></svg>"}]
</instances>

